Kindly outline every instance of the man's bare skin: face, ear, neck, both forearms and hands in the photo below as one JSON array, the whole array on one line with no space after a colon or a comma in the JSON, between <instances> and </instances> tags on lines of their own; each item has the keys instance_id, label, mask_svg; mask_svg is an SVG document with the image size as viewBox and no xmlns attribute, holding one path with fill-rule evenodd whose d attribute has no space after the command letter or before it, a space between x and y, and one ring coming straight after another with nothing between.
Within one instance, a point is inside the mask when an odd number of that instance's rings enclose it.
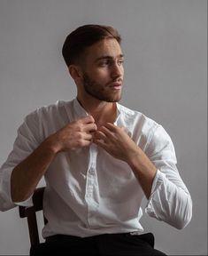
<instances>
[{"instance_id":1,"label":"man's bare skin: face, ear, neck, both forearms and hands","mask_svg":"<svg viewBox=\"0 0 208 256\"><path fill-rule=\"evenodd\" d=\"M150 197L156 167L127 135L125 127L113 124L117 115L115 102L121 98L124 77L120 45L115 39L104 39L89 46L82 60L82 63L71 65L69 73L77 85L77 99L89 116L51 134L13 169L11 193L14 202L24 201L33 194L59 152L88 147L91 143L129 164L145 196Z\"/></svg>"}]
</instances>

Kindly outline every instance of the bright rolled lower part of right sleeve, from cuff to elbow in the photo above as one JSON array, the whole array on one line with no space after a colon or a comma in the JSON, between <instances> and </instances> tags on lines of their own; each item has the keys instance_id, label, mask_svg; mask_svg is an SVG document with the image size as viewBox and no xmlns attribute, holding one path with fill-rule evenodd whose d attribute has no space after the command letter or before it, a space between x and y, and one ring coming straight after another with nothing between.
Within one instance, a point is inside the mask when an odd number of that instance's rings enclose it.
<instances>
[{"instance_id":1,"label":"bright rolled lower part of right sleeve, from cuff to elbow","mask_svg":"<svg viewBox=\"0 0 208 256\"><path fill-rule=\"evenodd\" d=\"M192 201L189 193L178 188L158 171L155 188L145 208L145 212L157 220L162 220L174 228L185 228L192 216Z\"/></svg>"}]
</instances>

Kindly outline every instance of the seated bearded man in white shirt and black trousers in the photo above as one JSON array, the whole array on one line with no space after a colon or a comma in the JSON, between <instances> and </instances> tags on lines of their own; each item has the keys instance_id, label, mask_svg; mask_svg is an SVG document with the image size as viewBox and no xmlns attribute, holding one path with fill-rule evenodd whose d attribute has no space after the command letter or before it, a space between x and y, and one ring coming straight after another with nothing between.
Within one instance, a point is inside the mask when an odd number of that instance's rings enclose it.
<instances>
[{"instance_id":1,"label":"seated bearded man in white shirt and black trousers","mask_svg":"<svg viewBox=\"0 0 208 256\"><path fill-rule=\"evenodd\" d=\"M164 128L119 105L124 55L116 29L85 25L65 39L63 56L77 98L38 108L19 127L1 168L2 210L30 205L44 175L46 243L31 255L165 255L141 235L145 211L188 225L189 191Z\"/></svg>"}]
</instances>

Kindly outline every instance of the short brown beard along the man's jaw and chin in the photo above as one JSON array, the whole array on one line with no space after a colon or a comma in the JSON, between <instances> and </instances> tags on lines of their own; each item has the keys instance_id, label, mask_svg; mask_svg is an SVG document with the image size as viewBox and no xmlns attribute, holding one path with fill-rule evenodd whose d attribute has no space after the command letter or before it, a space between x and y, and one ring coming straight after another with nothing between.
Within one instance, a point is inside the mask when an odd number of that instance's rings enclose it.
<instances>
[{"instance_id":1,"label":"short brown beard along the man's jaw and chin","mask_svg":"<svg viewBox=\"0 0 208 256\"><path fill-rule=\"evenodd\" d=\"M97 100L118 102L121 98L121 93L119 96L118 93L116 93L116 95L114 93L105 93L104 85L96 83L96 81L91 79L86 73L83 75L83 85L85 92L89 93L90 96L96 98Z\"/></svg>"}]
</instances>

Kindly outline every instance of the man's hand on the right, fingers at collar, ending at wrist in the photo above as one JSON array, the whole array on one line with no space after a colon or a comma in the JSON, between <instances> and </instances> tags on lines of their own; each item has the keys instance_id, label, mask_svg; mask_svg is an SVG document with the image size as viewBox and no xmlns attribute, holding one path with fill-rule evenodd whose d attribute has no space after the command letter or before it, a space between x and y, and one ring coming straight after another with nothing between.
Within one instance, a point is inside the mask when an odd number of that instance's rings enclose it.
<instances>
[{"instance_id":1,"label":"man's hand on the right, fingers at collar, ending at wrist","mask_svg":"<svg viewBox=\"0 0 208 256\"><path fill-rule=\"evenodd\" d=\"M107 123L96 131L94 142L110 155L127 163L138 154L138 147L124 128Z\"/></svg>"}]
</instances>

